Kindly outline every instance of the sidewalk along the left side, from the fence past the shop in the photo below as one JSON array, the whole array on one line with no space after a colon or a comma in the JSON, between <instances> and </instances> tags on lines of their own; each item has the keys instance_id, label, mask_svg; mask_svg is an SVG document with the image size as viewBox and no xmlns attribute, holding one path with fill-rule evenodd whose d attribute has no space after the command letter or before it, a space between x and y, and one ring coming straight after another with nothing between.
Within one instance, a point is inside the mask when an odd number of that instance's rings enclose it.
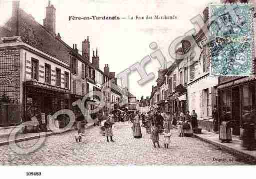
<instances>
[{"instance_id":1,"label":"sidewalk along the left side, from the fence past the shop","mask_svg":"<svg viewBox=\"0 0 256 179\"><path fill-rule=\"evenodd\" d=\"M94 123L87 124L87 126L85 126L85 129L92 127L93 124ZM13 141L8 142L9 133L13 129L14 129L14 127L13 128L0 128L0 146L8 145L9 142L13 142ZM72 131L72 130L74 130L74 127L72 127L70 130L67 130L65 132ZM42 135L41 137L44 137L44 136L47 137L47 136L56 135L56 134L60 134L60 133L59 132L46 132L46 135ZM20 133L18 133L16 135L15 142L17 143L17 142L28 141L28 140L32 140L32 139L38 139L39 137L40 137L40 133L23 134L20 129Z\"/></svg>"}]
</instances>

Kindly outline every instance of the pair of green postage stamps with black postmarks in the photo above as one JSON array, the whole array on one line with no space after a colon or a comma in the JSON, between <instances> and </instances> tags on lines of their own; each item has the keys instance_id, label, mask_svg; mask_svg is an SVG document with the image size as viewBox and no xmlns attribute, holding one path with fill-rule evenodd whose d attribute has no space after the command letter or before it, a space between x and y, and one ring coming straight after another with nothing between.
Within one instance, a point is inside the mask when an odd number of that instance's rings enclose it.
<instances>
[{"instance_id":1,"label":"pair of green postage stamps with black postmarks","mask_svg":"<svg viewBox=\"0 0 256 179\"><path fill-rule=\"evenodd\" d=\"M252 4L210 4L209 13L211 75L252 75Z\"/></svg>"}]
</instances>

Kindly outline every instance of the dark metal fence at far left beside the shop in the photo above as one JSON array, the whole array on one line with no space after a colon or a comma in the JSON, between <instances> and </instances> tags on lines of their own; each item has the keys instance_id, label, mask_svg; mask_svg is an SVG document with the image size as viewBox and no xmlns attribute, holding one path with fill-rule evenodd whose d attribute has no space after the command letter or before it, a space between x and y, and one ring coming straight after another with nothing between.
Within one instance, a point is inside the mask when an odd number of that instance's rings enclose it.
<instances>
[{"instance_id":1,"label":"dark metal fence at far left beside the shop","mask_svg":"<svg viewBox=\"0 0 256 179\"><path fill-rule=\"evenodd\" d=\"M0 103L0 127L19 125L22 117L22 104Z\"/></svg>"}]
</instances>

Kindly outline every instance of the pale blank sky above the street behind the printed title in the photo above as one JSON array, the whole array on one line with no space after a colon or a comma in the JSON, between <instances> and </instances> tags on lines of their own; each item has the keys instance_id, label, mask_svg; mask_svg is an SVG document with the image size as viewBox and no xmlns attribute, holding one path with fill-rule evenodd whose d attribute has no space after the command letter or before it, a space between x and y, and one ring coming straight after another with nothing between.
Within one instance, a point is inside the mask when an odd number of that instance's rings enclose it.
<instances>
[{"instance_id":1,"label":"pale blank sky above the street behind the printed title","mask_svg":"<svg viewBox=\"0 0 256 179\"><path fill-rule=\"evenodd\" d=\"M56 33L62 40L82 51L82 41L89 36L90 54L98 48L100 69L109 64L115 74L140 62L153 50L151 42L156 42L167 60L169 45L176 37L184 35L194 28L190 19L202 14L210 0L51 0L56 8ZM36 21L43 24L45 7L48 0L20 0L20 8L31 14ZM11 0L0 0L0 25L11 16ZM69 20L69 16L120 16L120 20ZM128 15L135 17L153 16L153 19L129 20ZM154 15L177 16L175 20L154 19ZM150 96L152 85L156 85L157 71L160 64L152 59L146 66L147 73L153 72L155 78L143 86L138 72L129 74L129 91L138 99L143 95Z\"/></svg>"}]
</instances>

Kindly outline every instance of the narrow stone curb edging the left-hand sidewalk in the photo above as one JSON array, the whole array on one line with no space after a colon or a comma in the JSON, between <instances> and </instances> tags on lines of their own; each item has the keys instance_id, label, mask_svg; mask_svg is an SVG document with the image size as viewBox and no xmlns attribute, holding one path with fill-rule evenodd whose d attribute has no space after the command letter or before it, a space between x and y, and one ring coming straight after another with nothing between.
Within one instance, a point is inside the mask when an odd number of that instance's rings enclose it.
<instances>
[{"instance_id":1,"label":"narrow stone curb edging the left-hand sidewalk","mask_svg":"<svg viewBox=\"0 0 256 179\"><path fill-rule=\"evenodd\" d=\"M93 124L90 124L89 126L86 126L85 129L89 129L90 127L92 127ZM35 136L29 136L29 137L24 137L24 138L19 138L19 139L15 139L15 140L12 140L12 141L3 141L3 142L0 142L0 146L4 146L4 145L8 145L9 143L18 143L18 142L23 142L23 141L29 141L29 140L33 140L33 139L39 139L40 137L48 137L48 136L52 136L52 135L56 135L56 134L63 134L63 133L66 133L66 132L69 132L69 131L74 131L76 129L69 129L69 130L66 130L64 132L50 132L50 133L46 133L45 135L35 135Z\"/></svg>"}]
</instances>

